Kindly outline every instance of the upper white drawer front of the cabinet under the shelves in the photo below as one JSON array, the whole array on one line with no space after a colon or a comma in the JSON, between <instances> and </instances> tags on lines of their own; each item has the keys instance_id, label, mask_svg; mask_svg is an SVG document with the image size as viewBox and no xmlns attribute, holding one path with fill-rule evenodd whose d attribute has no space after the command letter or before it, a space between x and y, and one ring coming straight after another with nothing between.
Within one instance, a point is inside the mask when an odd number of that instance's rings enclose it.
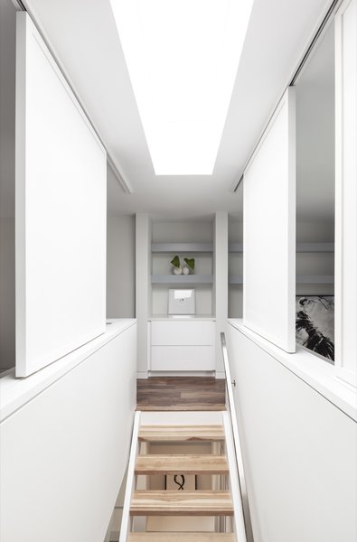
<instances>
[{"instance_id":1,"label":"upper white drawer front of the cabinet under the shelves","mask_svg":"<svg viewBox=\"0 0 357 542\"><path fill-rule=\"evenodd\" d=\"M209 346L214 334L215 322L151 322L153 346Z\"/></svg>"}]
</instances>

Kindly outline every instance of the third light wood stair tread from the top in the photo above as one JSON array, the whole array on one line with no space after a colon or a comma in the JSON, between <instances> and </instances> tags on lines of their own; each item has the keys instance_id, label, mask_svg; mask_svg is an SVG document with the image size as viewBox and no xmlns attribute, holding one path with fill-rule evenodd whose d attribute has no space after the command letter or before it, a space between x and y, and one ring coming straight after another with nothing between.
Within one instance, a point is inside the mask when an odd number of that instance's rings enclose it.
<instances>
[{"instance_id":1,"label":"third light wood stair tread from the top","mask_svg":"<svg viewBox=\"0 0 357 542\"><path fill-rule=\"evenodd\" d=\"M229 491L134 491L130 516L232 516Z\"/></svg>"}]
</instances>

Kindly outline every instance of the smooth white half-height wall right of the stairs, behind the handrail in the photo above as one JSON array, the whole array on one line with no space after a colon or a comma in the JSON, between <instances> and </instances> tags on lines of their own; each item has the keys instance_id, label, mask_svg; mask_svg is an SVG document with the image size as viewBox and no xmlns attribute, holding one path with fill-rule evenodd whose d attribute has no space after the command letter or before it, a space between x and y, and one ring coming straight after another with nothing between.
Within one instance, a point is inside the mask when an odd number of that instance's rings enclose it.
<instances>
[{"instance_id":1,"label":"smooth white half-height wall right of the stairs, behind the handrail","mask_svg":"<svg viewBox=\"0 0 357 542\"><path fill-rule=\"evenodd\" d=\"M354 542L356 423L230 324L227 334L255 542Z\"/></svg>"}]
</instances>

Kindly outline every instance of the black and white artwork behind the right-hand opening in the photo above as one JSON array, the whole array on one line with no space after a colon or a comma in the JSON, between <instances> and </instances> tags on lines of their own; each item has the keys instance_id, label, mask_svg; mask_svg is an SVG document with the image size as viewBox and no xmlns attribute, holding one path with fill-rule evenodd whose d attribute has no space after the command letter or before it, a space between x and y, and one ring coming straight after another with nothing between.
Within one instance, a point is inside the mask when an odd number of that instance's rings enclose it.
<instances>
[{"instance_id":1,"label":"black and white artwork behind the right-hand opening","mask_svg":"<svg viewBox=\"0 0 357 542\"><path fill-rule=\"evenodd\" d=\"M334 361L334 295L296 295L296 342Z\"/></svg>"}]
</instances>

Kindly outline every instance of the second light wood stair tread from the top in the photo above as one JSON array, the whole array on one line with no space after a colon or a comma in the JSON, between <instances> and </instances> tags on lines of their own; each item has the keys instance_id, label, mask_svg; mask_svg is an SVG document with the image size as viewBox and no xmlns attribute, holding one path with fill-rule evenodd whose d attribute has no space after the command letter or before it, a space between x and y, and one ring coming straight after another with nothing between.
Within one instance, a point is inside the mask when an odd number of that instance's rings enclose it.
<instances>
[{"instance_id":1,"label":"second light wood stair tread from the top","mask_svg":"<svg viewBox=\"0 0 357 542\"><path fill-rule=\"evenodd\" d=\"M136 474L228 474L224 455L147 454L136 457Z\"/></svg>"}]
</instances>

